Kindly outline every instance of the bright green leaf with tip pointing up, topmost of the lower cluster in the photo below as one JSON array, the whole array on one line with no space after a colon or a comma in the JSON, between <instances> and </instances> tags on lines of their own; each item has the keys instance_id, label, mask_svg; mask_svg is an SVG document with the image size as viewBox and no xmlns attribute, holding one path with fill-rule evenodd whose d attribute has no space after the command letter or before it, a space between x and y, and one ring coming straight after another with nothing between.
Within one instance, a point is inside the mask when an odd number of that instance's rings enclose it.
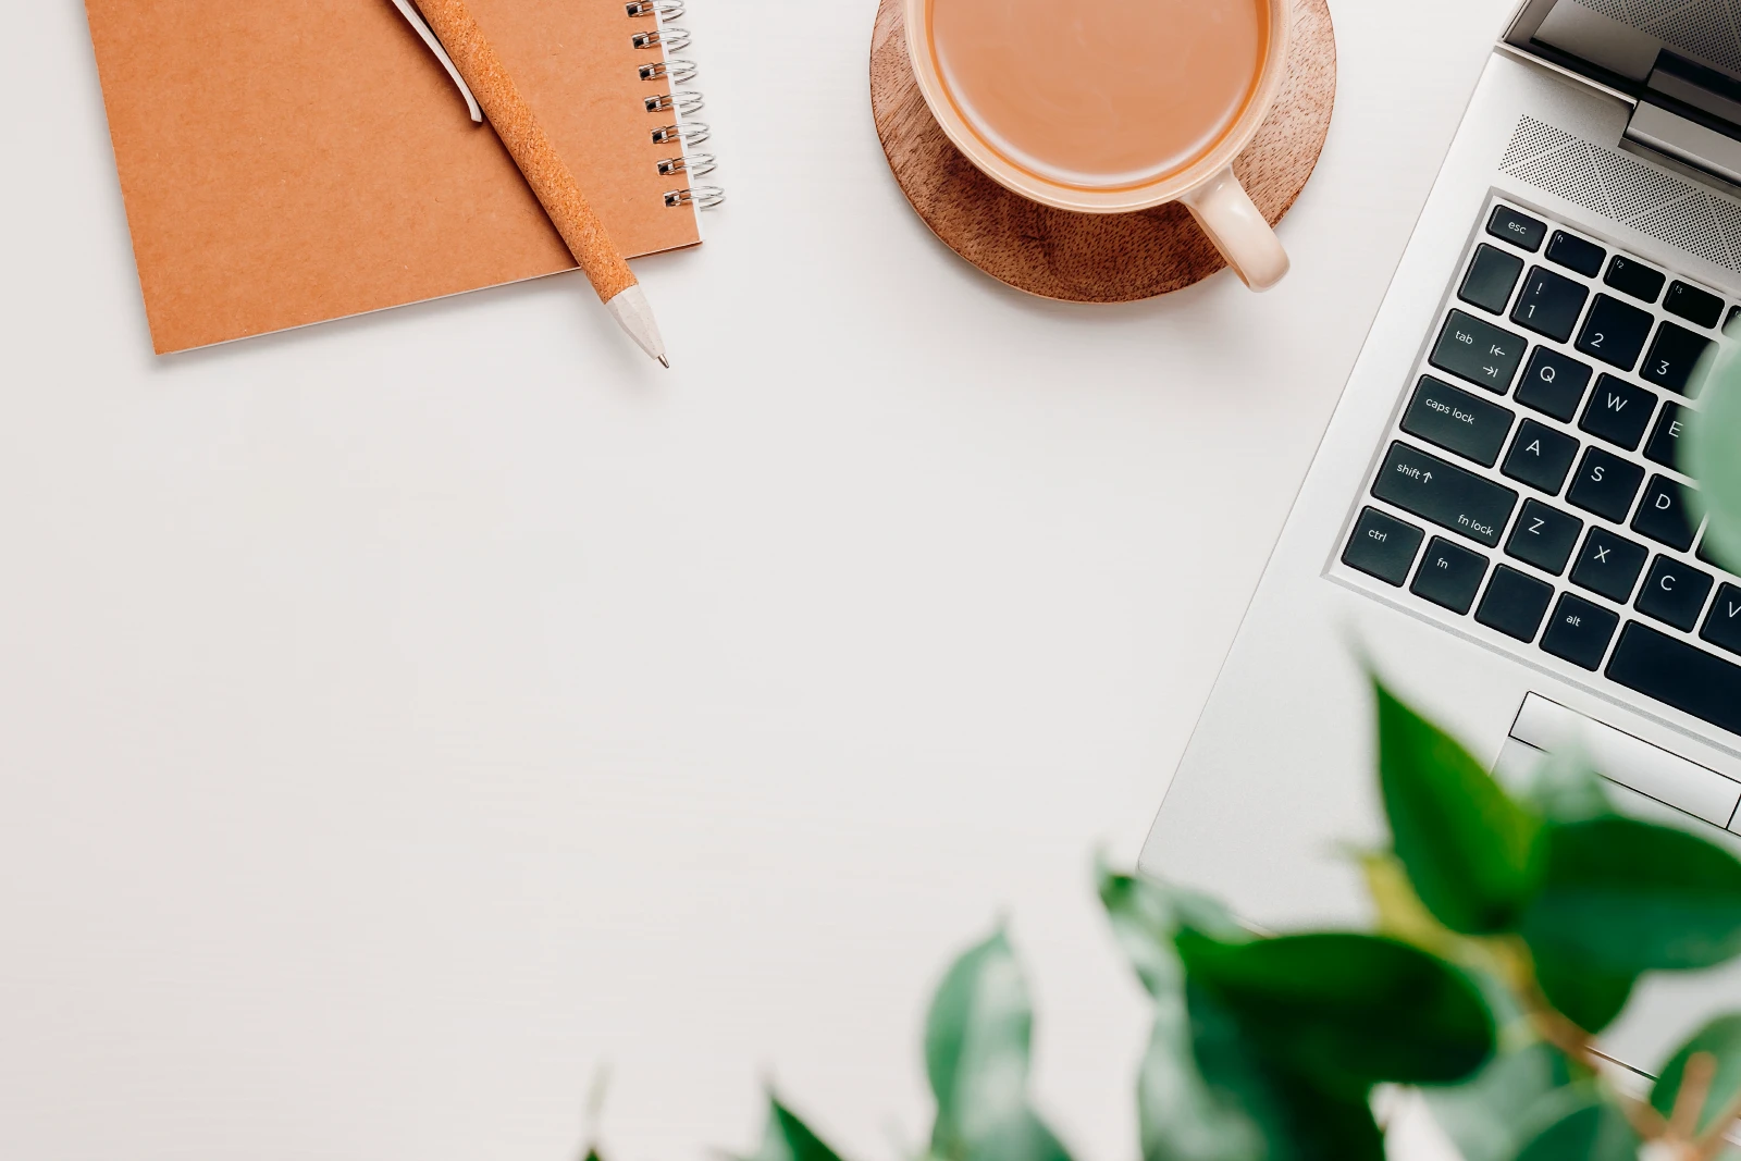
<instances>
[{"instance_id":1,"label":"bright green leaf with tip pointing up, topmost of the lower cluster","mask_svg":"<svg viewBox=\"0 0 1741 1161\"><path fill-rule=\"evenodd\" d=\"M1377 681L1379 787L1396 858L1452 931L1511 929L1539 881L1541 820Z\"/></svg>"}]
</instances>

